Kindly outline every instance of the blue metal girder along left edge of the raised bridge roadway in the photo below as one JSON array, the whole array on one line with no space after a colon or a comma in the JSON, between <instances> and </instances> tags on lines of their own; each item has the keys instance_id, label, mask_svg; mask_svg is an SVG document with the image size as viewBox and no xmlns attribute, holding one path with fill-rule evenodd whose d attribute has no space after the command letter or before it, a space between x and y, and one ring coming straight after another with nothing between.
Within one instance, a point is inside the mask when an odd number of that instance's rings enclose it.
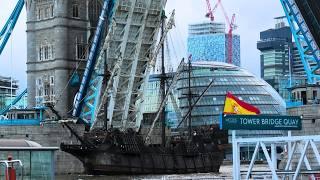
<instances>
[{"instance_id":1,"label":"blue metal girder along left edge of the raised bridge roadway","mask_svg":"<svg viewBox=\"0 0 320 180\"><path fill-rule=\"evenodd\" d=\"M115 0L105 0L103 3L86 69L74 104L73 116L78 117L81 122L90 126L93 124L92 119L94 118L99 101L103 80L101 76L103 74L103 63L99 67L96 67L99 51L104 39L102 31L104 30L104 23L106 21L105 17L107 18L108 30L111 28L110 24L114 14L114 6Z\"/></svg>"}]
</instances>

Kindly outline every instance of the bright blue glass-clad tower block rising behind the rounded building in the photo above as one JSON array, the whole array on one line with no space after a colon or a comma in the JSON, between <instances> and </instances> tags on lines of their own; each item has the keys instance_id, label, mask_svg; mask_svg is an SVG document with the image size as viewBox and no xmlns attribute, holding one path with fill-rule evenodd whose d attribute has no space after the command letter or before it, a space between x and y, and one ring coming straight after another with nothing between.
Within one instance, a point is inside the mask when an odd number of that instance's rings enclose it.
<instances>
[{"instance_id":1,"label":"bright blue glass-clad tower block rising behind the rounded building","mask_svg":"<svg viewBox=\"0 0 320 180\"><path fill-rule=\"evenodd\" d=\"M188 53L192 61L227 62L228 35L224 23L203 22L189 25ZM232 36L232 63L240 66L240 36Z\"/></svg>"}]
</instances>

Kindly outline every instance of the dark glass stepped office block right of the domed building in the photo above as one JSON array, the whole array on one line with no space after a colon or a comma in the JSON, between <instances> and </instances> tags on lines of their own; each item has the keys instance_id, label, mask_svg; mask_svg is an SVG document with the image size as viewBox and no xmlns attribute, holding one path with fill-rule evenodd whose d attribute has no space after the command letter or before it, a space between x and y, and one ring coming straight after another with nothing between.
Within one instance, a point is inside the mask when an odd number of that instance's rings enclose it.
<instances>
[{"instance_id":1,"label":"dark glass stepped office block right of the domed building","mask_svg":"<svg viewBox=\"0 0 320 180\"><path fill-rule=\"evenodd\" d=\"M296 106L290 89L305 84L307 78L298 48L292 42L290 27L283 18L275 18L274 29L260 32L257 48L261 52L261 77L279 92L288 106ZM316 66L316 63L310 62L310 66Z\"/></svg>"}]
</instances>

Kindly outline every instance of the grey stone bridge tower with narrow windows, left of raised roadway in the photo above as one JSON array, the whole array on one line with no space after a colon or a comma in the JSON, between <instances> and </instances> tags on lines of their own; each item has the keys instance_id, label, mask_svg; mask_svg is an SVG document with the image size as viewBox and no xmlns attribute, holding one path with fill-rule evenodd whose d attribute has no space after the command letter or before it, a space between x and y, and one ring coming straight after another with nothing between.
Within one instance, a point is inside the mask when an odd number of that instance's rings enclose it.
<instances>
[{"instance_id":1,"label":"grey stone bridge tower with narrow windows, left of raised roadway","mask_svg":"<svg viewBox=\"0 0 320 180\"><path fill-rule=\"evenodd\" d=\"M29 108L51 104L62 116L70 113L79 88L70 79L85 66L99 7L98 0L26 1Z\"/></svg>"}]
</instances>

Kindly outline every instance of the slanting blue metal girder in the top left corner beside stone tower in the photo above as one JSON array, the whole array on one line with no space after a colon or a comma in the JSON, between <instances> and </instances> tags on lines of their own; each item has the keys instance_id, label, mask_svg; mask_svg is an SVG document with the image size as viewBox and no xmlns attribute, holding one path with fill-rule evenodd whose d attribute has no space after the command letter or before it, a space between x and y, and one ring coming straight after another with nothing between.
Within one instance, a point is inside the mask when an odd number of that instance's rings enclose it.
<instances>
[{"instance_id":1,"label":"slanting blue metal girder in the top left corner beside stone tower","mask_svg":"<svg viewBox=\"0 0 320 180\"><path fill-rule=\"evenodd\" d=\"M24 6L24 0L19 0L16 7L14 8L13 12L11 13L9 19L7 20L6 24L2 28L0 32L0 54L2 53L4 47L6 46L11 33L14 29L14 26L17 23L21 10Z\"/></svg>"}]
</instances>

